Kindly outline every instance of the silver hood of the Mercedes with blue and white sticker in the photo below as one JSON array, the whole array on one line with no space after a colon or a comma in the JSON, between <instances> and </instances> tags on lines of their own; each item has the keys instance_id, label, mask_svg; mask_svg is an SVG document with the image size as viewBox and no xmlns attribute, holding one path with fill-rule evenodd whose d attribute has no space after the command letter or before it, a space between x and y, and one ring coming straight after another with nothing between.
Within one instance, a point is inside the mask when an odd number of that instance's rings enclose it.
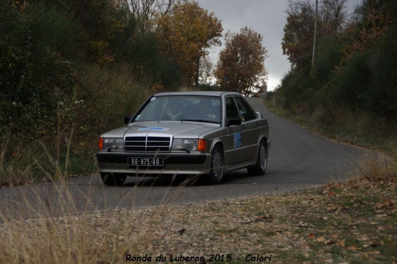
<instances>
[{"instance_id":1,"label":"silver hood of the Mercedes with blue and white sticker","mask_svg":"<svg viewBox=\"0 0 397 264\"><path fill-rule=\"evenodd\" d=\"M151 121L130 123L128 126L103 134L104 137L129 135L171 135L179 138L198 138L200 134L219 128L218 124L181 121Z\"/></svg>"}]
</instances>

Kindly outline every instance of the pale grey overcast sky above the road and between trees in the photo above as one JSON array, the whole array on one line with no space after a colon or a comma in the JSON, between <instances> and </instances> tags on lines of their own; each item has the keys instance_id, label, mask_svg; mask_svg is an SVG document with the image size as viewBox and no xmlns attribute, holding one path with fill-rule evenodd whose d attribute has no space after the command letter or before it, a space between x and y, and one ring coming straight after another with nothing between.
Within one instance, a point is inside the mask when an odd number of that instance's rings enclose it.
<instances>
[{"instance_id":1,"label":"pale grey overcast sky above the road and between trees","mask_svg":"<svg viewBox=\"0 0 397 264\"><path fill-rule=\"evenodd\" d=\"M265 60L268 71L267 90L273 90L281 78L290 69L286 56L282 54L281 39L286 23L287 0L196 0L199 5L222 20L223 33L227 30L239 32L248 26L263 37L269 57ZM321 1L321 0L320 0ZM320 2L319 1L319 2ZM312 0L315 2L315 0ZM350 14L361 0L347 0L347 12ZM222 42L224 40L222 39ZM214 64L218 60L222 47L212 48L210 57Z\"/></svg>"}]
</instances>

